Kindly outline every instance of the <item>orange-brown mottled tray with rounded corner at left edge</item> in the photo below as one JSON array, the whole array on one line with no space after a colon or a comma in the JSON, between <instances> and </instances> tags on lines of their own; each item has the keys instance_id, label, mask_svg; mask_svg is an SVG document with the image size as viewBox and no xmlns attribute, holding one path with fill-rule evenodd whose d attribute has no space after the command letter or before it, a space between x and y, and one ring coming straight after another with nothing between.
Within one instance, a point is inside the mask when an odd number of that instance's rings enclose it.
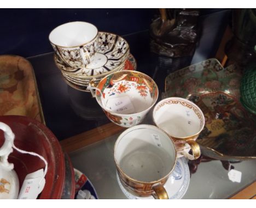
<instances>
[{"instance_id":1,"label":"orange-brown mottled tray with rounded corner at left edge","mask_svg":"<svg viewBox=\"0 0 256 208\"><path fill-rule=\"evenodd\" d=\"M0 56L0 115L24 115L45 124L30 62L19 56Z\"/></svg>"}]
</instances>

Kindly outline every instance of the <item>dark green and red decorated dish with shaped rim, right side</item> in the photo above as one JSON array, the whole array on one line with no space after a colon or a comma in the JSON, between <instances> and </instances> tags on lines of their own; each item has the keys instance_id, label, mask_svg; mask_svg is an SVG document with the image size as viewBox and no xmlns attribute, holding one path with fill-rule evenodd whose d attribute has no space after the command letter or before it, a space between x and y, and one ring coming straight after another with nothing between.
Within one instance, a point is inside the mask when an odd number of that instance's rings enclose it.
<instances>
[{"instance_id":1,"label":"dark green and red decorated dish with shaped rim, right side","mask_svg":"<svg viewBox=\"0 0 256 208\"><path fill-rule=\"evenodd\" d=\"M256 158L255 115L240 103L241 77L237 66L224 69L217 59L208 59L165 79L166 97L193 101L205 115L196 140L203 155L228 161Z\"/></svg>"}]
</instances>

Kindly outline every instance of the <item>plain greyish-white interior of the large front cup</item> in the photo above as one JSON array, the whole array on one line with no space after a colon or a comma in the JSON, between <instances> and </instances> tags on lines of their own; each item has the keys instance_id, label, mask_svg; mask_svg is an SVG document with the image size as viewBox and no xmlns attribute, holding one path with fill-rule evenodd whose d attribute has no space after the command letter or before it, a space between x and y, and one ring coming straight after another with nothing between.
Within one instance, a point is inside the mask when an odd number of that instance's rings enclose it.
<instances>
[{"instance_id":1,"label":"plain greyish-white interior of the large front cup","mask_svg":"<svg viewBox=\"0 0 256 208\"><path fill-rule=\"evenodd\" d=\"M132 179L160 180L175 164L174 145L162 131L139 126L126 130L115 146L115 158L121 170Z\"/></svg>"}]
</instances>

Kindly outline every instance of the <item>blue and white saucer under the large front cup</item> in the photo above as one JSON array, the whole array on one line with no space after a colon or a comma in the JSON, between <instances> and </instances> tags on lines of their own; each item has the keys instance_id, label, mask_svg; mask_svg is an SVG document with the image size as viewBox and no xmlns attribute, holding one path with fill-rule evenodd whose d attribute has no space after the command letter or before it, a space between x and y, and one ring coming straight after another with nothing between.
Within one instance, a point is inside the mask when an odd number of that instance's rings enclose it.
<instances>
[{"instance_id":1,"label":"blue and white saucer under the large front cup","mask_svg":"<svg viewBox=\"0 0 256 208\"><path fill-rule=\"evenodd\" d=\"M150 197L137 197L127 192L124 186L121 184L117 174L118 184L128 199L154 199ZM169 199L182 199L188 190L190 180L188 162L184 157L178 158L176 167L174 168L171 176L166 181L164 187L168 193Z\"/></svg>"}]
</instances>

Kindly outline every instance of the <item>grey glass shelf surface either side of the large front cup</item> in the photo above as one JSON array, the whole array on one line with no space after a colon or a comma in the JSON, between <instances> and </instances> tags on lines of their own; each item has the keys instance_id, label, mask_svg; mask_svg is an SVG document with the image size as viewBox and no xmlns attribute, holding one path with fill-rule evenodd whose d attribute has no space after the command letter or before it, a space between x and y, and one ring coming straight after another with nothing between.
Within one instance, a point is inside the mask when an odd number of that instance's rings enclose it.
<instances>
[{"instance_id":1,"label":"grey glass shelf surface either side of the large front cup","mask_svg":"<svg viewBox=\"0 0 256 208\"><path fill-rule=\"evenodd\" d=\"M73 166L90 178L100 199L126 199L117 181L113 148L119 134L86 146L70 154ZM200 163L191 174L183 199L226 199L256 179L254 160L232 164L242 172L241 183L228 179L228 170L220 161Z\"/></svg>"}]
</instances>

